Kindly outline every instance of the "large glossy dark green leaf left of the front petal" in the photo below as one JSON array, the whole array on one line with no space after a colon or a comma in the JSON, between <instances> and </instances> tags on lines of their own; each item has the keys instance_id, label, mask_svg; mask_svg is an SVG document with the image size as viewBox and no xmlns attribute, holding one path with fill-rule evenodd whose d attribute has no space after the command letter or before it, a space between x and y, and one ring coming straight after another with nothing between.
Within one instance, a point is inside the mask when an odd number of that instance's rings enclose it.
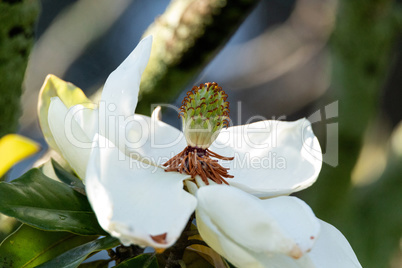
<instances>
[{"instance_id":1,"label":"large glossy dark green leaf left of the front petal","mask_svg":"<svg viewBox=\"0 0 402 268\"><path fill-rule=\"evenodd\" d=\"M105 234L84 195L36 168L0 183L0 212L43 230Z\"/></svg>"}]
</instances>

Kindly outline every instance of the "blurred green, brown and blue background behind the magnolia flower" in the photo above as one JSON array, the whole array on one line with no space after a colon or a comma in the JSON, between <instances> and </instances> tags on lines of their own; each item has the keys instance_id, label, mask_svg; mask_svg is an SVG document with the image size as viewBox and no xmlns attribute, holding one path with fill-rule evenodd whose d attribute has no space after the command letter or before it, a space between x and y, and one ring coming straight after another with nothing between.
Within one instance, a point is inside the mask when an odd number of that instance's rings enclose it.
<instances>
[{"instance_id":1,"label":"blurred green, brown and blue background behind the magnolia flower","mask_svg":"<svg viewBox=\"0 0 402 268\"><path fill-rule=\"evenodd\" d=\"M402 267L402 1L3 1L0 22L1 134L43 147L9 180L50 155L36 115L46 75L96 99L152 33L137 112L179 105L193 85L215 81L235 125L309 118L325 163L297 195L342 231L363 267ZM180 128L172 111L163 120Z\"/></svg>"}]
</instances>

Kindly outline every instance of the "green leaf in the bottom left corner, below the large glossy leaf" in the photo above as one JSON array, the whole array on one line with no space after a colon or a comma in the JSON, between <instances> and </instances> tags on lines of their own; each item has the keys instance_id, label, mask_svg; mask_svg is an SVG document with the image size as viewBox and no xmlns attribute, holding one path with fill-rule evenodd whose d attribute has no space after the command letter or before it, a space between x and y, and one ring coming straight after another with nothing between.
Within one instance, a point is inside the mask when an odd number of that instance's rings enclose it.
<instances>
[{"instance_id":1,"label":"green leaf in the bottom left corner, below the large glossy leaf","mask_svg":"<svg viewBox=\"0 0 402 268\"><path fill-rule=\"evenodd\" d=\"M94 239L96 236L46 232L23 224L1 243L0 267L35 267Z\"/></svg>"}]
</instances>

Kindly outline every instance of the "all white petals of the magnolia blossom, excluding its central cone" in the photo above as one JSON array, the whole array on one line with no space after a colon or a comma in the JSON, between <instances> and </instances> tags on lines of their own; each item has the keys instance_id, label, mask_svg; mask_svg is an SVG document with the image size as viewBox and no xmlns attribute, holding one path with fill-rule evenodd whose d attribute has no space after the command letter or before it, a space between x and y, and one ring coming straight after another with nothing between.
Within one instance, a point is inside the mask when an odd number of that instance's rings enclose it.
<instances>
[{"instance_id":1,"label":"all white petals of the magnolia blossom, excluding its central cone","mask_svg":"<svg viewBox=\"0 0 402 268\"><path fill-rule=\"evenodd\" d=\"M145 38L110 74L98 108L68 109L57 97L49 107L57 147L84 179L102 228L126 245L167 248L195 211L202 238L236 266L360 267L338 230L288 196L312 185L322 165L306 119L222 129L210 149L234 157L219 160L234 176L229 186L165 172L187 144L159 119L160 108L134 114L151 47Z\"/></svg>"}]
</instances>

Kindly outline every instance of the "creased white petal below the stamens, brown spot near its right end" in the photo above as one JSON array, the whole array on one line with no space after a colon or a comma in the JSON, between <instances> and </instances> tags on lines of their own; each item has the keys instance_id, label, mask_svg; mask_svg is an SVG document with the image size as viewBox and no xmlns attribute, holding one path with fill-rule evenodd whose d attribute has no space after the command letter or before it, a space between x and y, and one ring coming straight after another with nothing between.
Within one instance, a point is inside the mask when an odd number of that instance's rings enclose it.
<instances>
[{"instance_id":1,"label":"creased white petal below the stamens, brown spot near its right end","mask_svg":"<svg viewBox=\"0 0 402 268\"><path fill-rule=\"evenodd\" d=\"M263 265L278 253L300 258L319 234L314 213L296 197L260 200L222 185L201 187L196 195L201 236L240 267Z\"/></svg>"}]
</instances>

